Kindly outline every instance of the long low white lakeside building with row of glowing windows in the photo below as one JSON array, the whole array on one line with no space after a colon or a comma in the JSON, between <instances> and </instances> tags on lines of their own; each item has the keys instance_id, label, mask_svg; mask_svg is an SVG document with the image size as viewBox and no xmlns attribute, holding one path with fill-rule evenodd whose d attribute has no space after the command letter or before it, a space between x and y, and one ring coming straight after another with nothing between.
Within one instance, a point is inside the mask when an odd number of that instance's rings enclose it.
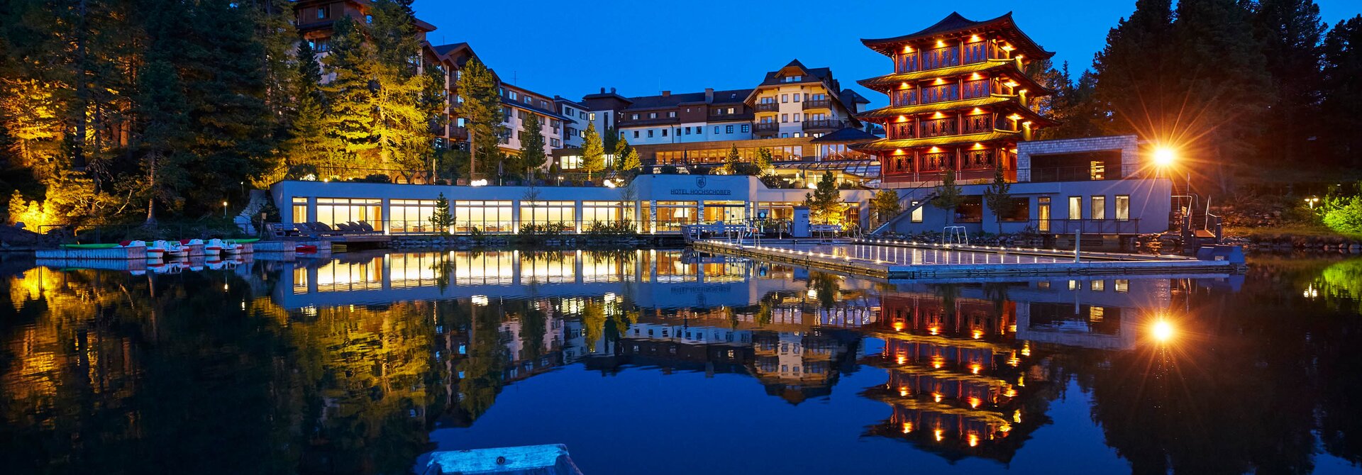
<instances>
[{"instance_id":1,"label":"long low white lakeside building with row of glowing windows","mask_svg":"<svg viewBox=\"0 0 1362 475\"><path fill-rule=\"evenodd\" d=\"M459 186L281 181L271 186L281 220L327 225L365 220L390 234L429 233L444 196L455 233L518 233L527 223L557 223L586 233L597 222L628 219L642 233L681 225L749 218L789 219L808 189L771 189L748 176L640 176L629 186ZM842 191L847 220L866 225L873 191Z\"/></svg>"}]
</instances>

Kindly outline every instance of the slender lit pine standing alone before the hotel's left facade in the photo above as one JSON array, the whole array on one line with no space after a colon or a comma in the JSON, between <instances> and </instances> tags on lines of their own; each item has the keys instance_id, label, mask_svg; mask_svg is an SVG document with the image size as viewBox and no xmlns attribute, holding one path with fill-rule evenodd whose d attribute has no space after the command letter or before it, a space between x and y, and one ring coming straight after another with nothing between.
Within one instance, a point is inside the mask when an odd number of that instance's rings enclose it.
<instances>
[{"instance_id":1,"label":"slender lit pine standing alone before the hotel's left facade","mask_svg":"<svg viewBox=\"0 0 1362 475\"><path fill-rule=\"evenodd\" d=\"M497 78L477 57L463 65L456 90L459 98L455 113L464 118L471 143L469 173L477 173L481 163L494 163L497 142L503 133L501 95Z\"/></svg>"}]
</instances>

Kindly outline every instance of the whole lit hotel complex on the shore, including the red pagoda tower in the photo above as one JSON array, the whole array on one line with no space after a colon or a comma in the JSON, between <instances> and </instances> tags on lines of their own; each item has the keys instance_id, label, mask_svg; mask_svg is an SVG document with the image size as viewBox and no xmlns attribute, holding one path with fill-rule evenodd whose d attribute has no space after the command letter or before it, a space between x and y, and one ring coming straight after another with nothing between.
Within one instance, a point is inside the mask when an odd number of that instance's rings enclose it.
<instances>
[{"instance_id":1,"label":"whole lit hotel complex on the shore, including the red pagoda tower","mask_svg":"<svg viewBox=\"0 0 1362 475\"><path fill-rule=\"evenodd\" d=\"M300 30L326 54L335 15L364 18L362 1L297 3ZM326 10L326 8L331 10ZM418 23L421 34L432 31ZM507 135L503 147L519 148L520 125L539 116L554 162L580 163L582 133L618 131L639 151L644 174L621 189L549 186L526 197L526 186L445 186L281 181L271 195L283 222L368 220L387 233L429 233L436 197L452 200L456 233L515 233L526 222L553 220L584 233L597 220L633 222L643 233L674 233L685 223L741 222L767 212L786 218L805 197L806 185L832 171L858 189L842 191L850 204L846 223L869 229L874 189L899 193L899 216L883 231L941 231L963 226L968 234L1020 233L1132 240L1169 229L1171 184L1158 178L1148 151L1135 136L1035 142L1031 132L1053 121L1030 103L1049 94L1024 73L1027 61L1049 57L1009 15L974 22L957 14L913 34L865 39L893 64L889 75L862 80L889 95L885 108L862 112L865 98L840 88L828 68L799 61L770 71L752 88L624 97L602 88L582 101L501 84ZM449 97L462 67L475 54L467 44L430 46L426 68L445 72ZM452 116L454 108L448 112ZM862 131L865 120L887 136ZM440 140L467 140L463 120L451 117ZM771 188L755 177L688 176L693 166L722 163L733 148L753 159L771 150L776 176ZM610 152L610 151L607 151ZM676 166L682 174L656 174ZM985 204L985 181L1001 167L1015 206L998 214ZM963 200L953 210L930 206L933 186L955 170ZM405 178L409 180L410 178ZM722 195L720 195L722 193ZM878 225L878 223L876 223Z\"/></svg>"}]
</instances>

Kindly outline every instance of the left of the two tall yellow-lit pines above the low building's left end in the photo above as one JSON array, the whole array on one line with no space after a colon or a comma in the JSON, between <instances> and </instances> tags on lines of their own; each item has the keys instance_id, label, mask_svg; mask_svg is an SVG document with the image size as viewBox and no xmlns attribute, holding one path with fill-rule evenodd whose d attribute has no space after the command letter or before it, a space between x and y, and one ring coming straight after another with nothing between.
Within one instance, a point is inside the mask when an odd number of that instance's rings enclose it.
<instances>
[{"instance_id":1,"label":"left of the two tall yellow-lit pines above the low building's left end","mask_svg":"<svg viewBox=\"0 0 1362 475\"><path fill-rule=\"evenodd\" d=\"M330 82L321 86L327 97L324 133L336 139L342 161L357 167L375 167L373 90L370 71L373 45L361 26L349 16L334 23L330 53L321 60Z\"/></svg>"}]
</instances>

